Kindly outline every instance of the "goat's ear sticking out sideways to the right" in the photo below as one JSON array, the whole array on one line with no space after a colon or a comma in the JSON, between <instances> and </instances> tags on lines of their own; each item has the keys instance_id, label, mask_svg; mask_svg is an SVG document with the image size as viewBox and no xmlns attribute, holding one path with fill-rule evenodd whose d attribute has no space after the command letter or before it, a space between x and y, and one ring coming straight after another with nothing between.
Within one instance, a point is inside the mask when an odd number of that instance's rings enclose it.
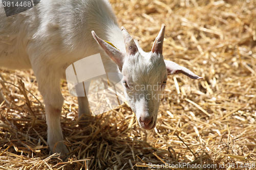
<instances>
[{"instance_id":1,"label":"goat's ear sticking out sideways to the right","mask_svg":"<svg viewBox=\"0 0 256 170\"><path fill-rule=\"evenodd\" d=\"M167 61L164 60L166 69L167 69L167 74L168 75L174 75L174 74L179 74L182 73L183 75L186 75L187 77L191 79L203 79L203 77L199 77L195 75L192 71L189 69L180 66L179 64L176 64L175 62L172 61Z\"/></svg>"}]
</instances>

